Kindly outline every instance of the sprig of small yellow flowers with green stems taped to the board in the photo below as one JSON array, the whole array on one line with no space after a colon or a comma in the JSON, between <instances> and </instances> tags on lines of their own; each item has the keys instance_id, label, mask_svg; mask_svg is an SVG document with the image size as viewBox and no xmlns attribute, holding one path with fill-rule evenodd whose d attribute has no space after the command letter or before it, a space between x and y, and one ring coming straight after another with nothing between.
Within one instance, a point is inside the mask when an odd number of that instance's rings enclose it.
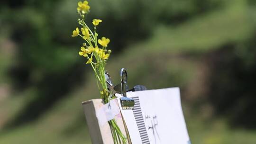
<instances>
[{"instance_id":1,"label":"sprig of small yellow flowers with green stems taped to the board","mask_svg":"<svg viewBox=\"0 0 256 144\"><path fill-rule=\"evenodd\" d=\"M84 0L83 2L79 1L77 3L77 13L81 17L78 18L78 24L80 27L76 27L75 30L73 30L72 37L80 36L84 40L78 54L87 59L85 61L86 64L91 65L95 73L101 99L103 99L104 103L108 103L113 96L113 94L108 90L105 78L105 67L111 53L111 50L107 49L108 44L110 43L110 39L104 36L98 39L98 33L96 29L102 22L101 19L92 20L91 23L94 26L93 32L87 26L85 18L86 15L90 12L91 8L88 4L89 3L87 0ZM127 139L121 133L116 121L114 119L110 120L109 125L111 128L114 144L126 144Z\"/></svg>"}]
</instances>

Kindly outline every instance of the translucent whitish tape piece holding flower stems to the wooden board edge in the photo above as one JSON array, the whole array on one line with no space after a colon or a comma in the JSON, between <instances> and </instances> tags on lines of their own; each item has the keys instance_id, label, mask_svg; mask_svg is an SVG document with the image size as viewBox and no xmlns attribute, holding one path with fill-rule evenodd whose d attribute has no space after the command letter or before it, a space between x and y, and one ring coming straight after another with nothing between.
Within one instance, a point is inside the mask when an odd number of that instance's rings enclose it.
<instances>
[{"instance_id":1,"label":"translucent whitish tape piece holding flower stems to the wooden board edge","mask_svg":"<svg viewBox=\"0 0 256 144\"><path fill-rule=\"evenodd\" d=\"M105 125L108 121L114 119L120 113L117 99L111 99L109 103L103 105L96 111L96 117L100 126Z\"/></svg>"}]
</instances>

